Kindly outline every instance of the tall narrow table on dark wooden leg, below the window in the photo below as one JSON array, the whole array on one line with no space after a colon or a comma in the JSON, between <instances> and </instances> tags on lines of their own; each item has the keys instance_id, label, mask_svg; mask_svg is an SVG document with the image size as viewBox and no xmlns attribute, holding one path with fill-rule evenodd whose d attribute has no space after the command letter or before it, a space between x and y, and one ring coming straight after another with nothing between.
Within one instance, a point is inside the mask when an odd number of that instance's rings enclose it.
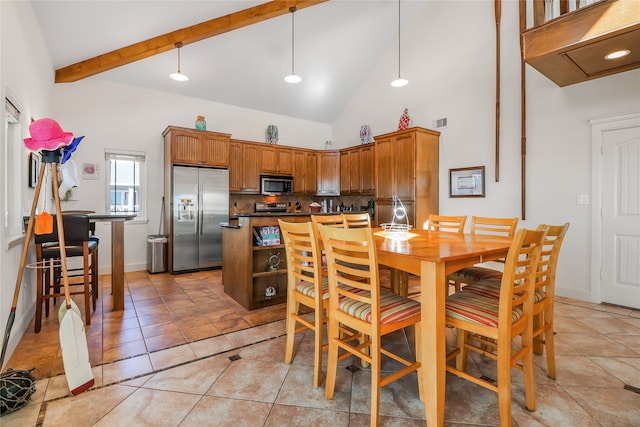
<instances>
[{"instance_id":1,"label":"tall narrow table on dark wooden leg, below the window","mask_svg":"<svg viewBox=\"0 0 640 427\"><path fill-rule=\"evenodd\" d=\"M89 213L92 222L111 223L111 293L113 311L124 310L124 223L135 218L132 213Z\"/></svg>"}]
</instances>

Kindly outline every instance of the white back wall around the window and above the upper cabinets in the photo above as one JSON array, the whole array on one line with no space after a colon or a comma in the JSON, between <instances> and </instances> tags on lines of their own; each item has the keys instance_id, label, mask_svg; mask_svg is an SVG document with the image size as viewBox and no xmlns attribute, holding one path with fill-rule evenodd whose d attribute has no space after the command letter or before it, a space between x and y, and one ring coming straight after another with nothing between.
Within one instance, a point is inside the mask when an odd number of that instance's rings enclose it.
<instances>
[{"instance_id":1,"label":"white back wall around the window and above the upper cabinets","mask_svg":"<svg viewBox=\"0 0 640 427\"><path fill-rule=\"evenodd\" d=\"M125 270L146 269L146 237L157 234L163 193L164 145L162 132L169 125L193 128L196 116L203 115L207 129L231 134L232 138L265 141L267 125L277 123L279 145L324 148L331 139L331 126L240 108L202 99L125 86L88 78L55 86L57 120L75 135L85 135L73 154L78 168L97 163L98 180L80 180L74 190L77 201L63 202L63 209L104 211L104 150L124 149L147 154L148 222L125 223ZM100 237L100 272L111 265L110 224L97 223Z\"/></svg>"}]
</instances>

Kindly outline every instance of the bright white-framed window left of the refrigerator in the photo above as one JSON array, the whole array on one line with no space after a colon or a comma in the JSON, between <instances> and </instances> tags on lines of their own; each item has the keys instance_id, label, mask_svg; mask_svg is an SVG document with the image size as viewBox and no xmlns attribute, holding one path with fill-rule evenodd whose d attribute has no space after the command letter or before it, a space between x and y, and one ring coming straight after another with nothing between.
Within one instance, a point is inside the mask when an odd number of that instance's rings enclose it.
<instances>
[{"instance_id":1,"label":"bright white-framed window left of the refrigerator","mask_svg":"<svg viewBox=\"0 0 640 427\"><path fill-rule=\"evenodd\" d=\"M135 213L137 220L147 216L145 153L105 151L107 197L110 213Z\"/></svg>"}]
</instances>

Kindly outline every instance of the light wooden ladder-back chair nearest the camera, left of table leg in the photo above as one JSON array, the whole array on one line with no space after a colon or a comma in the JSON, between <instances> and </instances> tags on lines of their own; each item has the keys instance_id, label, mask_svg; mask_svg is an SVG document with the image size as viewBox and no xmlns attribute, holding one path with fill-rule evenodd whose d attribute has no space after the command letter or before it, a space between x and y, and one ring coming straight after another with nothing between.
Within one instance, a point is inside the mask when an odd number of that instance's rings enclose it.
<instances>
[{"instance_id":1,"label":"light wooden ladder-back chair nearest the camera, left of table leg","mask_svg":"<svg viewBox=\"0 0 640 427\"><path fill-rule=\"evenodd\" d=\"M418 387L423 397L420 364L420 303L380 289L376 246L371 228L333 228L320 225L327 252L329 274L328 362L325 395L333 398L338 353L353 354L371 366L371 425L378 425L380 389L418 371ZM359 333L364 340L342 338L340 325ZM415 325L416 361L408 361L382 347L382 337ZM382 355L404 365L381 375Z\"/></svg>"}]
</instances>

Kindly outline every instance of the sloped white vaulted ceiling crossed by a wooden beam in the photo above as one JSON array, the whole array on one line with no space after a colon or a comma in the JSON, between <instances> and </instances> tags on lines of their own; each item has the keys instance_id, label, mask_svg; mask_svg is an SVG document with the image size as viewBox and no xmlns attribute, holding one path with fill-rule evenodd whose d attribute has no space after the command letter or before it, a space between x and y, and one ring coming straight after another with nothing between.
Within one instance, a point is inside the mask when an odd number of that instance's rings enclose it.
<instances>
[{"instance_id":1,"label":"sloped white vaulted ceiling crossed by a wooden beam","mask_svg":"<svg viewBox=\"0 0 640 427\"><path fill-rule=\"evenodd\" d=\"M60 77L73 64L266 1L32 3ZM279 3L288 10L295 1ZM402 2L402 19L411 20L428 3ZM286 11L215 37L185 41L181 71L188 82L168 77L177 69L176 49L158 49L161 53L87 78L332 123L384 52L394 49L397 7L395 0L332 0L299 8L295 71L303 80L297 85L284 81L291 71L292 42L291 14ZM389 64L389 81L395 74L397 65Z\"/></svg>"}]
</instances>

